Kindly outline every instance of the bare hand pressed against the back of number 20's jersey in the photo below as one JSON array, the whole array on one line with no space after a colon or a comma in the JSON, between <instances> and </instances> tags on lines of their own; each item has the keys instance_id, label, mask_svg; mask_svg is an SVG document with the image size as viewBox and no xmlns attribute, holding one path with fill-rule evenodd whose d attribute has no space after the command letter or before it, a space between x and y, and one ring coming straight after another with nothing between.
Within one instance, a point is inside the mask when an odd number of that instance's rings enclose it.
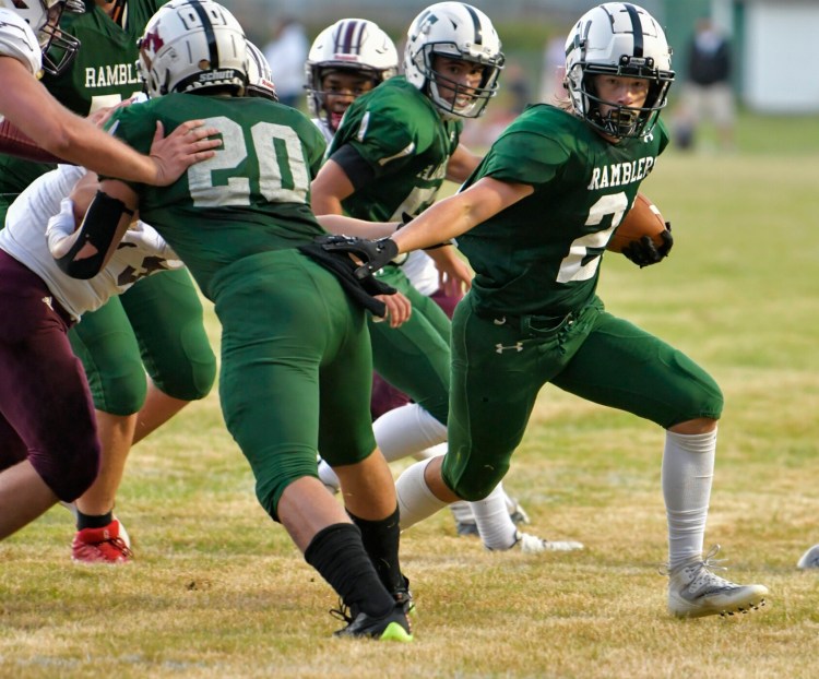
<instances>
[{"instance_id":1,"label":"bare hand pressed against the back of number 20's jersey","mask_svg":"<svg viewBox=\"0 0 819 679\"><path fill-rule=\"evenodd\" d=\"M156 178L153 183L157 187L167 187L194 163L212 158L215 155L212 150L221 146L222 140L207 138L216 134L218 130L204 127L204 120L189 120L164 136L163 124L157 120L150 152L156 166Z\"/></svg>"}]
</instances>

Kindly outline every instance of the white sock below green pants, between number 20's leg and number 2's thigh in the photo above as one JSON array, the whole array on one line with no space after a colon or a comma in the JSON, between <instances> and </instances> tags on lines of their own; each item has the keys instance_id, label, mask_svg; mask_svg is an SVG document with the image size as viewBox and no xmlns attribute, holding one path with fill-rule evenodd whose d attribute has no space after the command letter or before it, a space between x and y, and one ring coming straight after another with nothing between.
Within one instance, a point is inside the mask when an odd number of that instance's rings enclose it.
<instances>
[{"instance_id":1,"label":"white sock below green pants, between number 20's leg and number 2's thigh","mask_svg":"<svg viewBox=\"0 0 819 679\"><path fill-rule=\"evenodd\" d=\"M372 422L376 443L387 462L394 462L447 440L447 427L417 403L384 413Z\"/></svg>"}]
</instances>

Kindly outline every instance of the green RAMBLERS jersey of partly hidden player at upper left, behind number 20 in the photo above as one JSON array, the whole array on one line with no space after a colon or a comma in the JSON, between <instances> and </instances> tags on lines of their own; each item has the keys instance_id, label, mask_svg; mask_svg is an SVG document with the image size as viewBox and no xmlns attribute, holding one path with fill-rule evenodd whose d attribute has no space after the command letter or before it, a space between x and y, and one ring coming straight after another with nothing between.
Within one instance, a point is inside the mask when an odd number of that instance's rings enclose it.
<instances>
[{"instance_id":1,"label":"green RAMBLERS jersey of partly hidden player at upper left, behind number 20","mask_svg":"<svg viewBox=\"0 0 819 679\"><path fill-rule=\"evenodd\" d=\"M111 21L93 0L86 0L84 14L67 12L60 27L76 37L81 48L68 71L57 76L44 75L43 84L80 116L139 94L142 81L136 69L136 40L167 1L128 0L124 27ZM9 205L23 189L54 167L0 154L0 217L5 217Z\"/></svg>"}]
</instances>

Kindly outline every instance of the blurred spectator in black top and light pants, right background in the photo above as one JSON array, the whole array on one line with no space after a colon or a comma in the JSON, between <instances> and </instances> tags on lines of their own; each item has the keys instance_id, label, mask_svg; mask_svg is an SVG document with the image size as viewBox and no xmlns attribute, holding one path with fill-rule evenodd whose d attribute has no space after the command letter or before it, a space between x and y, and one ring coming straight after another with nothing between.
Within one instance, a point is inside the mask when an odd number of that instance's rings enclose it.
<instances>
[{"instance_id":1,"label":"blurred spectator in black top and light pants, right background","mask_svg":"<svg viewBox=\"0 0 819 679\"><path fill-rule=\"evenodd\" d=\"M676 141L693 147L698 128L710 120L724 151L734 148L736 111L731 86L731 45L710 19L700 19L688 51L688 81L682 86Z\"/></svg>"}]
</instances>

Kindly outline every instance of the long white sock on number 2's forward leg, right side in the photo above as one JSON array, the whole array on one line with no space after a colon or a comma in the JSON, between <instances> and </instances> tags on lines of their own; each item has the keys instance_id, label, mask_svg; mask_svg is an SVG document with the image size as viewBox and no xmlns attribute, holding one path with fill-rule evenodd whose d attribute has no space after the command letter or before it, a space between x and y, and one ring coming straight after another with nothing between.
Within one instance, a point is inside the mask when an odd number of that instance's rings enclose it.
<instances>
[{"instance_id":1,"label":"long white sock on number 2's forward leg, right side","mask_svg":"<svg viewBox=\"0 0 819 679\"><path fill-rule=\"evenodd\" d=\"M716 430L696 434L665 432L662 478L672 569L702 558L715 451Z\"/></svg>"}]
</instances>

